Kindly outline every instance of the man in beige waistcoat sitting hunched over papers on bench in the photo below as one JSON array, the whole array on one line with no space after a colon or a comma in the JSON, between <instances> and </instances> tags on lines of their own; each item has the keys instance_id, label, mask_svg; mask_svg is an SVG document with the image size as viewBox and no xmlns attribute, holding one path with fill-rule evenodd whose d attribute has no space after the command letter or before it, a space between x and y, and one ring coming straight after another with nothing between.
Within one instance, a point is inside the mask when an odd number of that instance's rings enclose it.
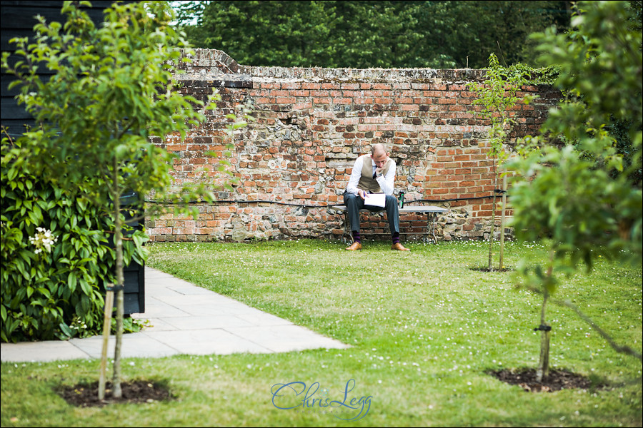
<instances>
[{"instance_id":1,"label":"man in beige waistcoat sitting hunched over papers on bench","mask_svg":"<svg viewBox=\"0 0 643 428\"><path fill-rule=\"evenodd\" d=\"M377 208L367 205L371 211L387 210L389 227L393 235L391 250L409 251L399 243L399 212L397 199L393 196L395 181L395 162L389 158L384 144L374 144L371 154L359 156L353 165L351 178L344 192L344 204L351 223L353 243L347 250L362 250L362 237L359 235L359 210L364 208L367 193L384 193L386 205Z\"/></svg>"}]
</instances>

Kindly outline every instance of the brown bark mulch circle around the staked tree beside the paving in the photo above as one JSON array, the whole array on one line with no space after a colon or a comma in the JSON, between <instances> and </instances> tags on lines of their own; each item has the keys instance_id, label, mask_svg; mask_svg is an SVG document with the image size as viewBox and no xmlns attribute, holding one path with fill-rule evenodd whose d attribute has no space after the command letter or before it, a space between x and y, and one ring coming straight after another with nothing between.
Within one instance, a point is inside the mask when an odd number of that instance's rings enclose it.
<instances>
[{"instance_id":1,"label":"brown bark mulch circle around the staked tree beside the paving","mask_svg":"<svg viewBox=\"0 0 643 428\"><path fill-rule=\"evenodd\" d=\"M73 387L62 387L58 394L76 407L102 407L116 403L153 403L172 399L172 395L164 385L148 380L121 382L123 396L119 399L111 397L110 382L106 384L105 398L98 399L98 387L99 382L77 384Z\"/></svg>"}]
</instances>

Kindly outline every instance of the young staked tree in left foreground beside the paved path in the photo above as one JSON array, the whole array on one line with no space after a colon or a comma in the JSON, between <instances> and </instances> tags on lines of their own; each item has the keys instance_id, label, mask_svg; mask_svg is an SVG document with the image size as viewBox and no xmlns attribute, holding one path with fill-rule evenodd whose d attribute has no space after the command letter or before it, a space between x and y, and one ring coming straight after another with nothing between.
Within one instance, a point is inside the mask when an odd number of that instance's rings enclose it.
<instances>
[{"instance_id":1,"label":"young staked tree in left foreground beside the paved path","mask_svg":"<svg viewBox=\"0 0 643 428\"><path fill-rule=\"evenodd\" d=\"M91 6L87 1L80 4ZM120 347L123 331L123 230L121 205L126 193L156 198L167 194L173 157L150 143L151 136L185 136L190 126L204 121L204 103L174 91L171 61L185 46L169 24L173 11L166 1L114 4L105 21L95 26L76 6L65 1L66 22L47 23L39 17L35 41L16 39L14 66L3 54L2 66L17 77L19 102L40 125L21 138L23 155L62 188L79 183L93 203L104 208L114 223L116 253L116 352L114 397L121 395ZM53 71L48 81L36 73ZM205 107L204 107L205 108ZM201 182L183 188L174 200L213 200ZM135 218L129 221L136 220ZM141 220L142 218L139 218ZM142 245L146 237L134 233Z\"/></svg>"}]
</instances>

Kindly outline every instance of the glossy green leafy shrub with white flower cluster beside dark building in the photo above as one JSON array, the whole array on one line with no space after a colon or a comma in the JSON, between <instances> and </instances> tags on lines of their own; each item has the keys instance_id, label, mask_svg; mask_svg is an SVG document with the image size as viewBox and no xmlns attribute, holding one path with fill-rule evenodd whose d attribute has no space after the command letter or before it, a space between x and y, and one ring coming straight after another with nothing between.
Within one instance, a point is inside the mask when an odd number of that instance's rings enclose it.
<instances>
[{"instance_id":1,"label":"glossy green leafy shrub with white flower cluster beside dark building","mask_svg":"<svg viewBox=\"0 0 643 428\"><path fill-rule=\"evenodd\" d=\"M83 189L62 189L31 170L21 149L6 138L1 180L1 340L98 334L102 284L114 282L114 250L105 232L109 216L89 202ZM49 251L34 242L43 230L56 239ZM132 258L143 263L141 245L127 240L124 247L126 264Z\"/></svg>"}]
</instances>

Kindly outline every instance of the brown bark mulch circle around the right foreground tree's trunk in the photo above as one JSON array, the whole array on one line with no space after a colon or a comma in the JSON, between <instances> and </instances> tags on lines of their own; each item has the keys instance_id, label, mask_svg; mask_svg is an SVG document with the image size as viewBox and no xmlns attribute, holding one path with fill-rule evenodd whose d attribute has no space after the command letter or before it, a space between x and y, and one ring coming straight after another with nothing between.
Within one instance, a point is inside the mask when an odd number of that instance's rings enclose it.
<instances>
[{"instance_id":1,"label":"brown bark mulch circle around the right foreground tree's trunk","mask_svg":"<svg viewBox=\"0 0 643 428\"><path fill-rule=\"evenodd\" d=\"M527 392L553 392L561 389L589 389L599 388L603 385L592 382L589 377L569 372L567 370L549 370L549 377L542 382L536 380L535 369L522 370L492 370L492 376L502 382L518 385Z\"/></svg>"}]
</instances>

